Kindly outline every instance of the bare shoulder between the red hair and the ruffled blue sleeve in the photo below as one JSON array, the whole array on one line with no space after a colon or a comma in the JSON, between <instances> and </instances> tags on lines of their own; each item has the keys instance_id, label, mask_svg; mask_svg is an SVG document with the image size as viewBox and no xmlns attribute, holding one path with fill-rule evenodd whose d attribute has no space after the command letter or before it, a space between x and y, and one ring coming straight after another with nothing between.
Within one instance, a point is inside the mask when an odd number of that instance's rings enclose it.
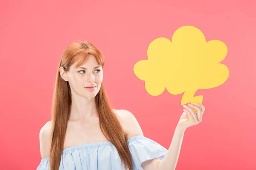
<instances>
[{"instance_id":1,"label":"bare shoulder between the red hair and the ruffled blue sleeve","mask_svg":"<svg viewBox=\"0 0 256 170\"><path fill-rule=\"evenodd\" d=\"M113 111L116 113L120 124L124 129L126 139L130 139L133 136L143 135L139 122L130 111L124 109L113 109Z\"/></svg>"}]
</instances>

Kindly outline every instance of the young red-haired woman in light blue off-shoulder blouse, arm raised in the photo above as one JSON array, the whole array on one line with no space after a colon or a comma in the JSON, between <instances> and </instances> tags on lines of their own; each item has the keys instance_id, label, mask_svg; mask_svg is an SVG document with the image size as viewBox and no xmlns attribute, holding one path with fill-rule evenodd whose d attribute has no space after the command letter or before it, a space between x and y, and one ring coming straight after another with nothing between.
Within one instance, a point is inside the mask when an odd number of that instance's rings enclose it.
<instances>
[{"instance_id":1,"label":"young red-haired woman in light blue off-shoulder blouse, arm raised","mask_svg":"<svg viewBox=\"0 0 256 170\"><path fill-rule=\"evenodd\" d=\"M143 136L132 113L111 108L102 83L104 63L90 42L74 42L64 51L52 121L40 130L37 170L174 170L184 131L201 122L204 106L184 106L166 150Z\"/></svg>"}]
</instances>

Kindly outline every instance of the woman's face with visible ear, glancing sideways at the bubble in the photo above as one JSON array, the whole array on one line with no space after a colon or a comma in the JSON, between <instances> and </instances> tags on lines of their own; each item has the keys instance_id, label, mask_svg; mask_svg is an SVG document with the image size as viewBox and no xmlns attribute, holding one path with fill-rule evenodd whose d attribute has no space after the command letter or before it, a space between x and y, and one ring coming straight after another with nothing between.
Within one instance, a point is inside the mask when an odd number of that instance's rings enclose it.
<instances>
[{"instance_id":1,"label":"woman's face with visible ear, glancing sideways at the bubble","mask_svg":"<svg viewBox=\"0 0 256 170\"><path fill-rule=\"evenodd\" d=\"M103 70L95 57L89 55L87 60L79 66L70 66L69 71L60 68L61 77L70 84L71 92L84 97L95 97L103 80Z\"/></svg>"}]
</instances>

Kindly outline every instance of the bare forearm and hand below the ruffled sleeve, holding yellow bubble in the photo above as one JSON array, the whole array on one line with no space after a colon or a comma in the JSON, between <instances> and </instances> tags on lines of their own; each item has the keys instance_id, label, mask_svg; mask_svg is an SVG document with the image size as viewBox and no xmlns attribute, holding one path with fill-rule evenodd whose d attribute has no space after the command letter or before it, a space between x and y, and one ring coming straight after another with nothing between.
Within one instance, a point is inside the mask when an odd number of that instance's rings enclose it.
<instances>
[{"instance_id":1,"label":"bare forearm and hand below the ruffled sleeve, holding yellow bubble","mask_svg":"<svg viewBox=\"0 0 256 170\"><path fill-rule=\"evenodd\" d=\"M189 106L184 105L183 107L184 112L180 116L180 120L175 129L168 152L162 160L157 158L143 162L141 164L143 170L175 170L186 128L200 123L205 111L204 106L201 104L189 104ZM195 112L192 108L194 108L197 112ZM188 117L189 121L187 121Z\"/></svg>"}]
</instances>

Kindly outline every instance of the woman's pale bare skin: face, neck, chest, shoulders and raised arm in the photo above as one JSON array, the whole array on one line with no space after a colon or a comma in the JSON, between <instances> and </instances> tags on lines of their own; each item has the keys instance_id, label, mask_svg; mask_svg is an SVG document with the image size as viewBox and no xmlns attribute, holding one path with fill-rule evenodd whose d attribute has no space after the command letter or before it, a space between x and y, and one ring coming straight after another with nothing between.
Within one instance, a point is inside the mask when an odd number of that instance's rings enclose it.
<instances>
[{"instance_id":1,"label":"woman's pale bare skin: face, neck, chest, shoulders and raised arm","mask_svg":"<svg viewBox=\"0 0 256 170\"><path fill-rule=\"evenodd\" d=\"M61 78L70 83L72 106L70 119L67 123L67 132L64 140L64 149L81 144L108 141L99 127L99 116L96 111L95 96L99 92L103 80L103 70L93 56L88 57L80 67L71 65L69 71L59 68ZM96 85L95 91L87 91L84 87ZM156 158L144 161L141 167L144 170L175 170L180 154L183 135L186 128L197 125L202 121L205 108L201 104L184 105L184 110L177 123L172 142L166 156L162 160ZM197 112L195 112L194 108ZM134 115L127 110L114 110L124 129L126 139L143 135L143 131ZM186 121L189 117L189 121ZM74 133L76 132L76 133ZM51 121L40 130L40 152L42 159L49 157Z\"/></svg>"}]
</instances>

